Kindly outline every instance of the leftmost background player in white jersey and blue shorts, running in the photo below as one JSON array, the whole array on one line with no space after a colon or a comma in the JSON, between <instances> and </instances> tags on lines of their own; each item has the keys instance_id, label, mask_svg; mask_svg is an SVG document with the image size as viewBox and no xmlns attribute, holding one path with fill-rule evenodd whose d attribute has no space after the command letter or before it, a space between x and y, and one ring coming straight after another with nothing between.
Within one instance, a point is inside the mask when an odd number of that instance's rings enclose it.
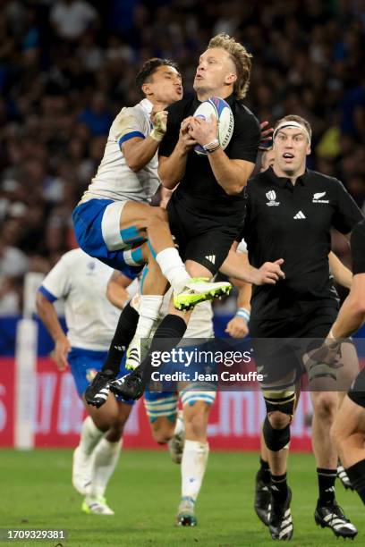
<instances>
[{"instance_id":1,"label":"leftmost background player in white jersey and blue shorts, running","mask_svg":"<svg viewBox=\"0 0 365 547\"><path fill-rule=\"evenodd\" d=\"M89 257L80 248L66 253L47 273L37 293L38 315L55 341L53 358L59 370L70 368L76 389L84 391L106 358L120 311L106 299L113 270ZM131 298L131 280L120 274L118 305ZM115 287L109 285L109 293ZM67 335L59 323L54 302L64 300ZM123 370L122 370L123 374ZM123 427L132 401L109 397L103 408L89 407L82 423L80 442L73 452L72 484L84 496L82 510L95 515L114 515L105 498L106 485L121 450Z\"/></svg>"}]
</instances>

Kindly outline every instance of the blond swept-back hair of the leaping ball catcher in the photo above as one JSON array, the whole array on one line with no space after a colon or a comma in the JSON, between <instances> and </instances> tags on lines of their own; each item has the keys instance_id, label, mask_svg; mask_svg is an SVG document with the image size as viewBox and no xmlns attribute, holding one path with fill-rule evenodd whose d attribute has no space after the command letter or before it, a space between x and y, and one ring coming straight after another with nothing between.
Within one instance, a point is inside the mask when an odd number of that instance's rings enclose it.
<instances>
[{"instance_id":1,"label":"blond swept-back hair of the leaping ball catcher","mask_svg":"<svg viewBox=\"0 0 365 547\"><path fill-rule=\"evenodd\" d=\"M208 49L211 47L221 47L230 55L237 72L237 80L235 80L233 84L233 95L237 99L246 97L250 86L252 55L250 55L242 44L236 42L234 38L231 38L228 34L225 34L225 32L211 38L208 43Z\"/></svg>"}]
</instances>

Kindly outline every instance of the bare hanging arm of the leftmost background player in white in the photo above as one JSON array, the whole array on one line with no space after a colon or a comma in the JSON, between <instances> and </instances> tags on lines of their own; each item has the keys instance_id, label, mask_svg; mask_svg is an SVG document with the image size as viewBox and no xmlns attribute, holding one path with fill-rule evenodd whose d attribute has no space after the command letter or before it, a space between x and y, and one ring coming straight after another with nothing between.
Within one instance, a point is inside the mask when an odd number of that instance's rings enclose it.
<instances>
[{"instance_id":1,"label":"bare hanging arm of the leftmost background player in white","mask_svg":"<svg viewBox=\"0 0 365 547\"><path fill-rule=\"evenodd\" d=\"M36 298L38 316L45 324L47 331L55 342L55 349L52 358L59 370L68 367L67 354L71 349L70 342L63 331L55 313L55 307L41 292L38 291Z\"/></svg>"}]
</instances>

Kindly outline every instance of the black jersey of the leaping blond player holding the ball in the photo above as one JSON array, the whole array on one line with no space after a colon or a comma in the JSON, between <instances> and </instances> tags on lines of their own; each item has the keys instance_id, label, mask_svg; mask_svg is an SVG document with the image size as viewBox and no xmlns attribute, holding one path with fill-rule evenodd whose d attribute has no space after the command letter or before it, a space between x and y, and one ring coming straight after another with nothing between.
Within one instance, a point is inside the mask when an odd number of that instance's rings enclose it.
<instances>
[{"instance_id":1,"label":"black jersey of the leaping blond player holding the ball","mask_svg":"<svg viewBox=\"0 0 365 547\"><path fill-rule=\"evenodd\" d=\"M259 122L233 95L226 97L225 101L231 106L234 118L233 135L225 148L225 154L231 159L242 159L254 164L259 148ZM200 104L193 96L183 98L167 108L167 130L159 146L160 156L172 154L179 139L181 123L194 114ZM194 150L188 154L183 181L175 190L173 198L180 204L211 215L242 215L243 191L241 194L228 196L216 182L208 157L199 156Z\"/></svg>"}]
</instances>

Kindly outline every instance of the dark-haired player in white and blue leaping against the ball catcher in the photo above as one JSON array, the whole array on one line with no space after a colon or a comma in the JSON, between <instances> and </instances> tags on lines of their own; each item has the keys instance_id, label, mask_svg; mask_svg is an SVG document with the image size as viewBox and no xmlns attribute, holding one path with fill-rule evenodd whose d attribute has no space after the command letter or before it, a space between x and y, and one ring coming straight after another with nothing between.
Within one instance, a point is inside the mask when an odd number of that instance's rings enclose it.
<instances>
[{"instance_id":1,"label":"dark-haired player in white and blue leaping against the ball catcher","mask_svg":"<svg viewBox=\"0 0 365 547\"><path fill-rule=\"evenodd\" d=\"M128 265L135 274L140 272L140 261L151 257L150 253L142 257L142 248L136 246L149 240L157 262L168 269L165 273L175 300L188 291L183 300L193 306L197 295L201 301L211 299L230 290L230 285L191 279L174 247L166 211L149 205L160 183L157 149L166 132L165 108L183 97L182 77L173 62L154 58L143 64L136 82L145 98L123 108L111 126L98 173L73 211L76 238L91 257L117 270ZM146 321L157 318L166 288L157 262L150 261L143 283L141 307L146 306ZM123 332L135 331L136 318L127 305L106 357L104 376L98 375L94 385L99 383L101 388L115 378L125 349Z\"/></svg>"}]
</instances>

